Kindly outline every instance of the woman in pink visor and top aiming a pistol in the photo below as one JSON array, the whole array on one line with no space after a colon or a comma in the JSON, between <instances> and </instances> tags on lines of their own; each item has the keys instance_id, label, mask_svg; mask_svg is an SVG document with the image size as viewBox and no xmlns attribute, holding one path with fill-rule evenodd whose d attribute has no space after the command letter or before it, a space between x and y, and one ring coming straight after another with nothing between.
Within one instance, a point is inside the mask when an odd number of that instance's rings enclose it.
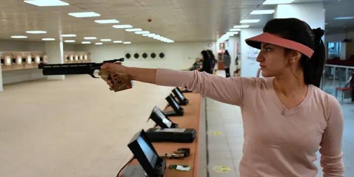
<instances>
[{"instance_id":1,"label":"woman in pink visor and top aiming a pistol","mask_svg":"<svg viewBox=\"0 0 354 177\"><path fill-rule=\"evenodd\" d=\"M343 116L338 101L318 88L325 61L324 31L299 19L273 19L264 33L246 40L261 49L265 78L223 78L197 71L129 68L134 80L187 86L215 100L239 105L244 126L241 176L315 176L316 151L324 176L343 176ZM111 82L107 81L111 86Z\"/></svg>"}]
</instances>

